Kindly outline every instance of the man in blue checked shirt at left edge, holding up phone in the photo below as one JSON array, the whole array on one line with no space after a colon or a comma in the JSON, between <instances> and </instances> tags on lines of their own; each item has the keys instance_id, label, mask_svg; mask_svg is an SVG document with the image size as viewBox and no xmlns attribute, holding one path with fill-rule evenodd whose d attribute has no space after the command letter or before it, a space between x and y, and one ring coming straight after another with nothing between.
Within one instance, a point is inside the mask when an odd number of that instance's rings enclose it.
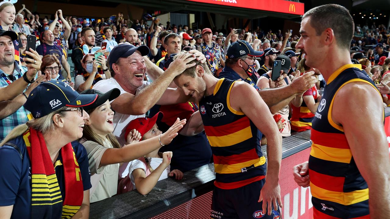
<instances>
[{"instance_id":1,"label":"man in blue checked shirt at left edge, holding up phone","mask_svg":"<svg viewBox=\"0 0 390 219\"><path fill-rule=\"evenodd\" d=\"M23 61L31 62L27 64L27 72L21 69L21 66L14 60L14 45L12 41L18 38L13 31L0 30L0 87L2 91L10 91L7 87L20 87L21 90L11 101L0 102L0 140L16 126L28 122L30 112L27 111L23 104L26 102L30 92L45 79L39 76L35 82L35 75L41 67L42 60L36 51L26 51L26 55L32 58L23 58ZM40 74L39 74L40 75ZM48 76L50 77L50 76ZM30 85L25 92L24 88ZM23 92L22 94L20 94ZM14 93L14 92L12 92Z\"/></svg>"}]
</instances>

